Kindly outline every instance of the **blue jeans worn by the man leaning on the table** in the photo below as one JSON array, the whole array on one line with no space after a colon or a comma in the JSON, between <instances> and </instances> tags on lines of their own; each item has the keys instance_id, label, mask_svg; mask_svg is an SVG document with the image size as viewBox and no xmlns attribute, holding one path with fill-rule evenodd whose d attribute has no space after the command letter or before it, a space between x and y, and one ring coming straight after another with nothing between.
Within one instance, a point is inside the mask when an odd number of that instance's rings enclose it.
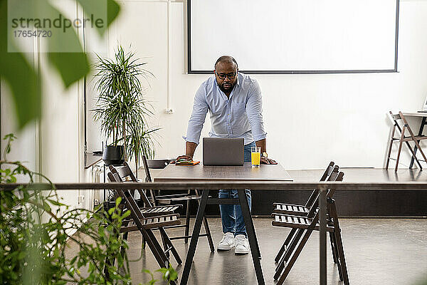
<instances>
[{"instance_id":1,"label":"blue jeans worn by the man leaning on the table","mask_svg":"<svg viewBox=\"0 0 427 285\"><path fill-rule=\"evenodd\" d=\"M251 147L255 147L255 142L245 145L245 162L251 161ZM251 209L251 190L246 189L249 209ZM218 198L238 198L237 190L219 190ZM232 232L234 236L246 234L245 221L240 204L220 204L221 221L223 224L223 233Z\"/></svg>"}]
</instances>

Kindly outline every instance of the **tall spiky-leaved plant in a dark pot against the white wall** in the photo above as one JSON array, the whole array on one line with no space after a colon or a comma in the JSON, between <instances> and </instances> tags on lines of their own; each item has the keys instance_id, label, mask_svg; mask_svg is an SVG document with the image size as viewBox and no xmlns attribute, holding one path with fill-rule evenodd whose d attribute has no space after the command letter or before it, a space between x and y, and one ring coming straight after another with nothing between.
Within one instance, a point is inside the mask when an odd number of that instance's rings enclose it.
<instances>
[{"instance_id":1,"label":"tall spiky-leaved plant in a dark pot against the white wall","mask_svg":"<svg viewBox=\"0 0 427 285\"><path fill-rule=\"evenodd\" d=\"M94 118L100 122L105 138L112 141L105 147L102 159L110 165L133 157L137 170L142 155L154 156L152 134L159 130L147 125L153 112L140 81L152 73L143 68L147 63L139 63L135 53L125 53L122 46L117 48L114 60L97 58L95 88L99 95Z\"/></svg>"}]
</instances>

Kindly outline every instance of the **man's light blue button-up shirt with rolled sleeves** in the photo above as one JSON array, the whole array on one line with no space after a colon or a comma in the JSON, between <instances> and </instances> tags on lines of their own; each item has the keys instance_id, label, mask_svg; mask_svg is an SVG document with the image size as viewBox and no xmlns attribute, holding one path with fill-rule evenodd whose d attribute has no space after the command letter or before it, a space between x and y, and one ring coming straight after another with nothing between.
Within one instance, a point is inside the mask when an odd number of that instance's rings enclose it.
<instances>
[{"instance_id":1,"label":"man's light blue button-up shirt with rolled sleeves","mask_svg":"<svg viewBox=\"0 0 427 285\"><path fill-rule=\"evenodd\" d=\"M219 89L215 76L201 83L194 96L186 141L199 144L206 113L211 115L211 138L244 138L245 145L263 140L267 133L263 123L263 98L255 79L238 73L230 96Z\"/></svg>"}]
</instances>

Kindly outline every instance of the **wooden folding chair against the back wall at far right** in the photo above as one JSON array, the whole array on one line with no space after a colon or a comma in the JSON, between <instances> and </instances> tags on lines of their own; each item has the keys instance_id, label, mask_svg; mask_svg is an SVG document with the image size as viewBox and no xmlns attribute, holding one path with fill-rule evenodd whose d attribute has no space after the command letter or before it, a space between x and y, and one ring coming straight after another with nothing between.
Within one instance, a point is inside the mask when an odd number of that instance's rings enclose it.
<instances>
[{"instance_id":1,"label":"wooden folding chair against the back wall at far right","mask_svg":"<svg viewBox=\"0 0 427 285\"><path fill-rule=\"evenodd\" d=\"M423 167L421 167L420 161L427 162L427 158L426 158L426 155L424 155L424 152L420 147L419 141L420 140L426 140L427 136L425 136L425 135L413 135L413 131L409 127L408 122L406 121L406 118L404 117L404 114L402 114L400 111L399 111L399 114L396 114L396 115L394 115L390 111L389 118L393 122L393 127L391 130L391 138L389 141L389 151L387 152L386 169L389 169L390 160L396 160L396 167L394 167L394 172L397 172L397 167L399 167L399 158L400 158L400 154L401 154L401 150L402 150L402 145L405 142L408 149L411 150L412 157L416 161L416 163L418 164L419 169L423 170ZM401 122L401 124L399 124L399 122ZM400 133L399 138L394 138L394 133L396 133L396 128ZM409 135L406 135L406 133L405 133L406 130L408 130ZM390 155L391 155L391 147L393 146L393 142L396 142L396 141L399 141L399 150L397 152L396 159L394 159L394 158L390 157ZM413 148L409 144L409 142L411 142L411 141L413 141L415 143L415 151L413 150ZM416 150L420 150L421 155L423 156L424 160L418 160L418 158L416 157Z\"/></svg>"}]
</instances>

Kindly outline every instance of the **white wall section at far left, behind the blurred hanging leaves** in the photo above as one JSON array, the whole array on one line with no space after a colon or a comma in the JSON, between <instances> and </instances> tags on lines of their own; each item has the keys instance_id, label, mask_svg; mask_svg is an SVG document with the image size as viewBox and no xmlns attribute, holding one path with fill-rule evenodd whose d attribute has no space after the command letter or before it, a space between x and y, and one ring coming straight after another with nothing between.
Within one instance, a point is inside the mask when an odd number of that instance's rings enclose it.
<instances>
[{"instance_id":1,"label":"white wall section at far left, behind the blurred hanging leaves","mask_svg":"<svg viewBox=\"0 0 427 285\"><path fill-rule=\"evenodd\" d=\"M68 14L75 18L82 11L70 6ZM80 40L83 30L78 29ZM83 80L65 88L56 70L41 54L43 80L43 117L41 120L42 171L53 182L85 182L84 98ZM91 209L92 190L58 192L63 202L72 207ZM78 203L78 196L84 197Z\"/></svg>"}]
</instances>

